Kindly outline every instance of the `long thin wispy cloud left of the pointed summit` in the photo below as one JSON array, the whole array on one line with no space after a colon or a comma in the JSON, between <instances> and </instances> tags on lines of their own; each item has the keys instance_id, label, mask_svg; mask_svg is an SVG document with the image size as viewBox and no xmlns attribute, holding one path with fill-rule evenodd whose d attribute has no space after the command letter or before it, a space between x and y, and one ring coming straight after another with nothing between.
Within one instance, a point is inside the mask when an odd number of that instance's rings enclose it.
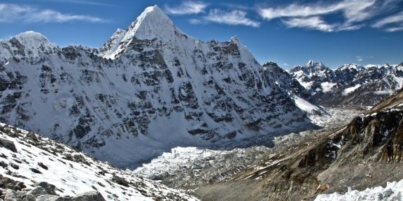
<instances>
[{"instance_id":1,"label":"long thin wispy cloud left of the pointed summit","mask_svg":"<svg viewBox=\"0 0 403 201\"><path fill-rule=\"evenodd\" d=\"M73 15L59 13L50 9L38 9L31 6L20 6L16 4L0 3L0 22L106 22L99 17L90 15Z\"/></svg>"}]
</instances>

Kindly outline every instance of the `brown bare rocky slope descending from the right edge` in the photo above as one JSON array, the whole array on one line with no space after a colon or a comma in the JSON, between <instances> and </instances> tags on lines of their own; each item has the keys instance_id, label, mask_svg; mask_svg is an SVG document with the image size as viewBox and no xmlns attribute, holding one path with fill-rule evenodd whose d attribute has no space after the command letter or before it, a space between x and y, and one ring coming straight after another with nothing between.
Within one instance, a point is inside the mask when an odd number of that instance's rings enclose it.
<instances>
[{"instance_id":1,"label":"brown bare rocky slope descending from the right edge","mask_svg":"<svg viewBox=\"0 0 403 201\"><path fill-rule=\"evenodd\" d=\"M202 186L197 193L203 200L309 200L346 192L347 187L362 191L403 179L402 97L401 90L350 124L286 146L229 181ZM379 199L402 199L400 191L390 190Z\"/></svg>"}]
</instances>

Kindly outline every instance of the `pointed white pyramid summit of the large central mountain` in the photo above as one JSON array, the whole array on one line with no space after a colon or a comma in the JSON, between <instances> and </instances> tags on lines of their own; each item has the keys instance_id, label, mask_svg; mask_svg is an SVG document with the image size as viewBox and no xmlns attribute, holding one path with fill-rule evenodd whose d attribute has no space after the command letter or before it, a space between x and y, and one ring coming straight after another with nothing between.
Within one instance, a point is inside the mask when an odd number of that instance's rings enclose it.
<instances>
[{"instance_id":1,"label":"pointed white pyramid summit of the large central mountain","mask_svg":"<svg viewBox=\"0 0 403 201\"><path fill-rule=\"evenodd\" d=\"M160 7L150 6L127 29L118 29L105 43L100 55L107 59L115 59L129 49L133 41L157 39L163 42L174 42L178 34L185 36L176 29L174 22Z\"/></svg>"}]
</instances>

